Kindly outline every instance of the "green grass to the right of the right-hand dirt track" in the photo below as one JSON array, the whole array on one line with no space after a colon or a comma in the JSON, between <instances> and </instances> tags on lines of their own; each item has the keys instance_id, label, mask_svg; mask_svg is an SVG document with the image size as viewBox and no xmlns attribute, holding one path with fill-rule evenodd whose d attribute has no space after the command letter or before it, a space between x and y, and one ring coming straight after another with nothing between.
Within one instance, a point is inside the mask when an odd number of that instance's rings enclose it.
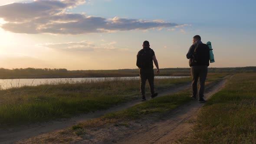
<instances>
[{"instance_id":1,"label":"green grass to the right of the right-hand dirt track","mask_svg":"<svg viewBox=\"0 0 256 144\"><path fill-rule=\"evenodd\" d=\"M233 76L197 117L194 135L184 143L255 144L256 74Z\"/></svg>"}]
</instances>

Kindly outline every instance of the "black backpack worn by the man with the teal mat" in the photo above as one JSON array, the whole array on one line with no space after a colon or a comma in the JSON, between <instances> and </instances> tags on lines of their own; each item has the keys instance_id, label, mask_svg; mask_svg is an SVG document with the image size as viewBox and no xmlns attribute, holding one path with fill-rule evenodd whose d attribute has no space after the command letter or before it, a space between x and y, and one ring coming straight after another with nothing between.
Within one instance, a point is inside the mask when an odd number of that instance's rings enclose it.
<instances>
[{"instance_id":1,"label":"black backpack worn by the man with the teal mat","mask_svg":"<svg viewBox=\"0 0 256 144\"><path fill-rule=\"evenodd\" d=\"M196 65L207 65L209 66L209 59L210 59L210 49L209 47L204 44L200 43L194 49L194 63Z\"/></svg>"}]
</instances>

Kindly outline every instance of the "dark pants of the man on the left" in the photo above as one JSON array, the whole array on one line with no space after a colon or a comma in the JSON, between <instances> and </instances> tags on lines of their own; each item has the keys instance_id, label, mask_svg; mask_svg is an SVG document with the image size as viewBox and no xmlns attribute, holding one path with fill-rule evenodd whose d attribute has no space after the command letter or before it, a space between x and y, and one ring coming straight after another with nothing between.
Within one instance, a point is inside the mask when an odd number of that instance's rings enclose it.
<instances>
[{"instance_id":1,"label":"dark pants of the man on the left","mask_svg":"<svg viewBox=\"0 0 256 144\"><path fill-rule=\"evenodd\" d=\"M154 94L154 70L153 69L140 69L141 78L141 95L145 97L145 84L148 79L151 94Z\"/></svg>"}]
</instances>

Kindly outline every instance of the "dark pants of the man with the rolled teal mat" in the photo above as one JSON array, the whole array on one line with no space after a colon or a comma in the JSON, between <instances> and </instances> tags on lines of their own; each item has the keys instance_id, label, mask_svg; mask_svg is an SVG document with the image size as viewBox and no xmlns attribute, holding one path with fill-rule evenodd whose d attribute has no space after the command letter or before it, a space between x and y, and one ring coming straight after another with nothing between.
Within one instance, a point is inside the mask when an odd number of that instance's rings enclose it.
<instances>
[{"instance_id":1,"label":"dark pants of the man with the rolled teal mat","mask_svg":"<svg viewBox=\"0 0 256 144\"><path fill-rule=\"evenodd\" d=\"M204 83L207 77L208 67L206 65L191 66L193 96L197 96L197 81L199 78L199 98L203 97Z\"/></svg>"}]
</instances>

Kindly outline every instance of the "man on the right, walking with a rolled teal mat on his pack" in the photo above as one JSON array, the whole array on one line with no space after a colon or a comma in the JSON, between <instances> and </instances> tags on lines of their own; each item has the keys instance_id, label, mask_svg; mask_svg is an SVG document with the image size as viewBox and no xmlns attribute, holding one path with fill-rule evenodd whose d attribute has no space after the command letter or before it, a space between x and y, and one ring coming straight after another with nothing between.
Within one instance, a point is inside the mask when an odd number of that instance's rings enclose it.
<instances>
[{"instance_id":1,"label":"man on the right, walking with a rolled teal mat on his pack","mask_svg":"<svg viewBox=\"0 0 256 144\"><path fill-rule=\"evenodd\" d=\"M209 48L206 44L201 42L200 36L193 37L193 45L190 46L187 52L187 59L189 59L189 65L191 67L192 76L192 91L193 94L190 96L192 99L197 99L197 81L199 78L199 102L203 103L204 84L207 77L208 66L209 66Z\"/></svg>"}]
</instances>

